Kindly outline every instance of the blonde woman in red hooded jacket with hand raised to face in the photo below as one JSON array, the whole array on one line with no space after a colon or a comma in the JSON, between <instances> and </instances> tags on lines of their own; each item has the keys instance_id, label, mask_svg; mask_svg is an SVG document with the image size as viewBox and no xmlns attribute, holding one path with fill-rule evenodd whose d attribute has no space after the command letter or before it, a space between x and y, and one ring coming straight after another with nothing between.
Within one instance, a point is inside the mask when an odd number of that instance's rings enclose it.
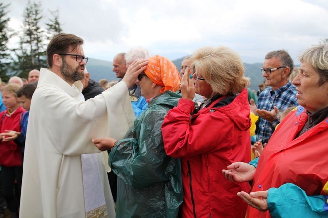
<instances>
[{"instance_id":1,"label":"blonde woman in red hooded jacket with hand raised to face","mask_svg":"<svg viewBox=\"0 0 328 218\"><path fill-rule=\"evenodd\" d=\"M250 160L250 108L244 65L226 47L204 47L193 55L193 73L182 78L177 107L164 119L168 156L181 158L183 217L244 218L247 204L236 195L248 183L231 183L221 167ZM196 111L195 92L206 99Z\"/></svg>"}]
</instances>

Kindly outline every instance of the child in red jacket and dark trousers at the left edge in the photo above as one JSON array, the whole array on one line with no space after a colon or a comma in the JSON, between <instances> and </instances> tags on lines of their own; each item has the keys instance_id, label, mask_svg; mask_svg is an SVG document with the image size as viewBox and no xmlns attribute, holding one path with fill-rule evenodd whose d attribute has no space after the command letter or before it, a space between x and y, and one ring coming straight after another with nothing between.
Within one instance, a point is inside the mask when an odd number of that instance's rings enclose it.
<instances>
[{"instance_id":1,"label":"child in red jacket and dark trousers at the left edge","mask_svg":"<svg viewBox=\"0 0 328 218\"><path fill-rule=\"evenodd\" d=\"M6 110L0 113L0 132L5 130L21 131L20 120L25 110L19 106L17 91L20 88L17 84L8 84L1 90L3 104ZM0 138L0 165L1 182L4 197L12 218L18 218L19 199L14 195L14 182L17 181L17 194L20 195L22 183L22 163L21 148L13 141L3 141L5 136Z\"/></svg>"}]
</instances>

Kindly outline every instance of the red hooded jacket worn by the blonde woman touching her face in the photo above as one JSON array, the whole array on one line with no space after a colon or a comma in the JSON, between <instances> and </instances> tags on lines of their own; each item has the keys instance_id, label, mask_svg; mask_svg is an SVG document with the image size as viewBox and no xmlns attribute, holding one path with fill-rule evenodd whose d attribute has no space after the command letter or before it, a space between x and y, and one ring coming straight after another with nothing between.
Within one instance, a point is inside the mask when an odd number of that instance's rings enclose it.
<instances>
[{"instance_id":1,"label":"red hooded jacket worn by the blonde woman touching her face","mask_svg":"<svg viewBox=\"0 0 328 218\"><path fill-rule=\"evenodd\" d=\"M180 99L164 119L165 151L168 156L181 158L183 217L245 217L247 204L237 192L249 192L249 184L228 181L222 169L236 161L250 160L247 89L234 99L225 97L192 116L194 103ZM217 106L219 102L224 106Z\"/></svg>"}]
</instances>

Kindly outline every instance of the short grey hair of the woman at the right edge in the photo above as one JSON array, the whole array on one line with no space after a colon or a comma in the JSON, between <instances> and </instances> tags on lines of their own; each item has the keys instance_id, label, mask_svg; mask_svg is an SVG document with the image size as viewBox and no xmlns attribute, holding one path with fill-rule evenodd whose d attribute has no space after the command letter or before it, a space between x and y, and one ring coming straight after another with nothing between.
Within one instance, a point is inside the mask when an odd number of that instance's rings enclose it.
<instances>
[{"instance_id":1,"label":"short grey hair of the woman at the right edge","mask_svg":"<svg viewBox=\"0 0 328 218\"><path fill-rule=\"evenodd\" d=\"M305 50L299 57L300 62L311 64L319 74L318 86L328 81L328 44L318 44Z\"/></svg>"}]
</instances>

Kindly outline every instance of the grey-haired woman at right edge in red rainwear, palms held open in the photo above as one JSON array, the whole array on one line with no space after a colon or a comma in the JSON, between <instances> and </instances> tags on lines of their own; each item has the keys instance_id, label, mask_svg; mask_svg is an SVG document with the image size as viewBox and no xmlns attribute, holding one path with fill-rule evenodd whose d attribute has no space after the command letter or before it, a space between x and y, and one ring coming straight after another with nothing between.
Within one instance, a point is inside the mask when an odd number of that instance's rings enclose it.
<instances>
[{"instance_id":1,"label":"grey-haired woman at right edge in red rainwear, palms held open","mask_svg":"<svg viewBox=\"0 0 328 218\"><path fill-rule=\"evenodd\" d=\"M253 180L250 194L237 194L250 205L248 218L328 217L328 44L305 50L299 60L293 84L300 106L259 158L222 171L232 182Z\"/></svg>"}]
</instances>

